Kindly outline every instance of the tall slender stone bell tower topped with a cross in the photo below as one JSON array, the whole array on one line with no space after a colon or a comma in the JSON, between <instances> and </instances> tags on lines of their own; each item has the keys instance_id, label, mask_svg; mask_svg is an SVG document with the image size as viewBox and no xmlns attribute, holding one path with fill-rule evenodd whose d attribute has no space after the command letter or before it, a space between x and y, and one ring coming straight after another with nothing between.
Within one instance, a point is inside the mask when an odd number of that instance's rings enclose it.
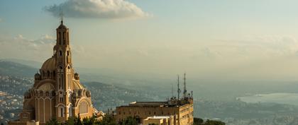
<instances>
[{"instance_id":1,"label":"tall slender stone bell tower topped with a cross","mask_svg":"<svg viewBox=\"0 0 298 125\"><path fill-rule=\"evenodd\" d=\"M54 47L56 59L56 116L59 121L65 121L72 116L72 79L74 70L72 69L72 52L70 51L69 29L63 25L63 19L56 29L57 40Z\"/></svg>"}]
</instances>

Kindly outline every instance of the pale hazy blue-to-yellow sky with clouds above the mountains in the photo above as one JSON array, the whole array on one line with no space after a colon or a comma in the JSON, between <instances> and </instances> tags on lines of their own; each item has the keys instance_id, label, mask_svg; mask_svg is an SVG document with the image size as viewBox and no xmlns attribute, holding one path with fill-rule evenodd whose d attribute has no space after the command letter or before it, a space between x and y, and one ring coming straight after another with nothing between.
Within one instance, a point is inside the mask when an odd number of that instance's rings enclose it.
<instances>
[{"instance_id":1,"label":"pale hazy blue-to-yellow sky with clouds above the mountains","mask_svg":"<svg viewBox=\"0 0 298 125\"><path fill-rule=\"evenodd\" d=\"M70 28L75 67L297 81L298 1L0 0L0 59L43 62Z\"/></svg>"}]
</instances>

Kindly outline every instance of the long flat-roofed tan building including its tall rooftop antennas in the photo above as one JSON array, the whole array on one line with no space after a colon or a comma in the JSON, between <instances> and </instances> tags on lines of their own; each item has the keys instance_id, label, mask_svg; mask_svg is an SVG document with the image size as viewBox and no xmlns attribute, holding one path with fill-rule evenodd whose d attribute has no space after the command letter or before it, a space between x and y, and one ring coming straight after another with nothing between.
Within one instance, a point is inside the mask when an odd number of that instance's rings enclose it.
<instances>
[{"instance_id":1,"label":"long flat-roofed tan building including its tall rooftop antennas","mask_svg":"<svg viewBox=\"0 0 298 125\"><path fill-rule=\"evenodd\" d=\"M179 86L179 78L178 78ZM140 124L194 124L194 104L192 95L187 95L184 77L184 95L181 99L172 97L167 102L131 102L129 105L116 107L116 120L136 117ZM178 97L180 89L178 87Z\"/></svg>"}]
</instances>

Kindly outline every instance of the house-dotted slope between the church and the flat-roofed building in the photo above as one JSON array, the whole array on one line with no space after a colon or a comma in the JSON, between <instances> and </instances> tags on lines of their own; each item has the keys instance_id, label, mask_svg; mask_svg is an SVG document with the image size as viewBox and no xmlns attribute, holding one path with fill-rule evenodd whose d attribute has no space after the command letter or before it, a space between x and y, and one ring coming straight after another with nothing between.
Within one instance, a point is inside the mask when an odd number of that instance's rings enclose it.
<instances>
[{"instance_id":1,"label":"house-dotted slope between the church and the flat-roofed building","mask_svg":"<svg viewBox=\"0 0 298 125\"><path fill-rule=\"evenodd\" d=\"M153 95L149 92L141 90L121 88L117 85L108 85L99 82L89 82L82 84L91 91L94 107L97 107L101 110L119 105L128 105L129 102L160 100L158 95Z\"/></svg>"}]
</instances>

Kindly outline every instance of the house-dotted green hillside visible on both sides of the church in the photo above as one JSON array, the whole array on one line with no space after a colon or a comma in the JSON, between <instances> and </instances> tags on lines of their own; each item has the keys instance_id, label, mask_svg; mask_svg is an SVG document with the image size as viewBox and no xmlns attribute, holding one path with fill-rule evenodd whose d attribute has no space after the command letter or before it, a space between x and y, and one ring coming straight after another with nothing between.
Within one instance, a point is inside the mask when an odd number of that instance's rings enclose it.
<instances>
[{"instance_id":1,"label":"house-dotted green hillside visible on both sides of the church","mask_svg":"<svg viewBox=\"0 0 298 125\"><path fill-rule=\"evenodd\" d=\"M23 107L23 93L33 86L37 69L11 61L0 61L0 121L16 119ZM141 90L121 88L100 82L82 83L92 93L94 107L99 110L127 105L136 100L157 100L159 97Z\"/></svg>"}]
</instances>

